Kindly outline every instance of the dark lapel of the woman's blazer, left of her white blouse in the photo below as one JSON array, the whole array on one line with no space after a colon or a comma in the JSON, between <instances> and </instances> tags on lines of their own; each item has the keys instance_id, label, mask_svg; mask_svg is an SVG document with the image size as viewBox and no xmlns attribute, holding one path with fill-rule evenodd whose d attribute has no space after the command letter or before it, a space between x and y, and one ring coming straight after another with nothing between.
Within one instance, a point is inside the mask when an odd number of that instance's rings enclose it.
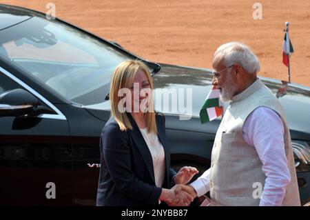
<instances>
[{"instance_id":1,"label":"dark lapel of the woman's blazer, left of her white blouse","mask_svg":"<svg viewBox=\"0 0 310 220\"><path fill-rule=\"evenodd\" d=\"M151 152L149 152L147 143L145 143L145 140L140 132L140 129L136 125L136 121L134 121L131 114L127 114L127 116L130 119L130 122L132 123L132 130L130 130L130 133L132 134L132 139L134 143L136 143L136 147L138 148L140 153L143 155L143 160L145 162L147 170L149 170L149 174L151 175L155 184L154 167Z\"/></svg>"}]
</instances>

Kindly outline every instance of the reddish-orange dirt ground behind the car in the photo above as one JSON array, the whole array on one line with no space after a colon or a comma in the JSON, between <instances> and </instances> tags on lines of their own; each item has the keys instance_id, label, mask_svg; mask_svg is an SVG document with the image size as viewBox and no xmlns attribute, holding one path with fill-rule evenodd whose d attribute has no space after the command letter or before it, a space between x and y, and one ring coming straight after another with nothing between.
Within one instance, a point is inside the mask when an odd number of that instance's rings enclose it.
<instances>
[{"instance_id":1,"label":"reddish-orange dirt ground behind the car","mask_svg":"<svg viewBox=\"0 0 310 220\"><path fill-rule=\"evenodd\" d=\"M47 12L120 43L141 57L161 63L211 68L214 51L228 41L251 46L260 59L260 75L287 80L282 64L285 21L295 52L291 80L310 86L309 0L10 0L15 6ZM254 3L262 19L254 20Z\"/></svg>"}]
</instances>

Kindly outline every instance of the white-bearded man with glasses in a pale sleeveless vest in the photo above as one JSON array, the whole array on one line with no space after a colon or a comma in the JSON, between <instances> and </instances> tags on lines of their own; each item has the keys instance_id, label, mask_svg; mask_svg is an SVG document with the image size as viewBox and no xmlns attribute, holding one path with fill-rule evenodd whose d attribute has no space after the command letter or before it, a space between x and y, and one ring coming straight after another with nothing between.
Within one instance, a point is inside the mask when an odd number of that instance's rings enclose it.
<instances>
[{"instance_id":1,"label":"white-bearded man with glasses in a pale sleeveless vest","mask_svg":"<svg viewBox=\"0 0 310 220\"><path fill-rule=\"evenodd\" d=\"M211 206L300 206L285 112L257 78L258 58L242 43L225 43L214 53L213 68L212 84L229 107L211 168L183 190L193 197L210 191Z\"/></svg>"}]
</instances>

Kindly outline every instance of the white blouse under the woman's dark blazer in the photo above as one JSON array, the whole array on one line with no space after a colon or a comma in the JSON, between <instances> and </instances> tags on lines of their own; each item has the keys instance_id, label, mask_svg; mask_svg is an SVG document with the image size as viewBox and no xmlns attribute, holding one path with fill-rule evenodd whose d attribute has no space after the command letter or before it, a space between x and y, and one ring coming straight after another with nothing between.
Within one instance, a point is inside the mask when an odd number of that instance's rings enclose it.
<instances>
[{"instance_id":1,"label":"white blouse under the woman's dark blazer","mask_svg":"<svg viewBox=\"0 0 310 220\"><path fill-rule=\"evenodd\" d=\"M165 151L163 145L154 132L148 133L147 128L142 128L140 131L145 143L147 143L149 152L152 154L156 186L162 187L165 181Z\"/></svg>"}]
</instances>

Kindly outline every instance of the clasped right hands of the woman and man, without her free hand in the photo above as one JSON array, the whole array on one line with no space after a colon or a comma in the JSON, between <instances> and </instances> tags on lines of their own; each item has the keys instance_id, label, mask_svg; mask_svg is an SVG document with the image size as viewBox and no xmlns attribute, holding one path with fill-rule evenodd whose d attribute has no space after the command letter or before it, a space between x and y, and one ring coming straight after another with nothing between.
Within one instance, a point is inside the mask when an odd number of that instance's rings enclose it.
<instances>
[{"instance_id":1,"label":"clasped right hands of the woman and man, without her free hand","mask_svg":"<svg viewBox=\"0 0 310 220\"><path fill-rule=\"evenodd\" d=\"M161 192L161 201L165 201L168 206L188 206L194 198L183 190L183 185L176 185L170 190L163 189Z\"/></svg>"}]
</instances>

